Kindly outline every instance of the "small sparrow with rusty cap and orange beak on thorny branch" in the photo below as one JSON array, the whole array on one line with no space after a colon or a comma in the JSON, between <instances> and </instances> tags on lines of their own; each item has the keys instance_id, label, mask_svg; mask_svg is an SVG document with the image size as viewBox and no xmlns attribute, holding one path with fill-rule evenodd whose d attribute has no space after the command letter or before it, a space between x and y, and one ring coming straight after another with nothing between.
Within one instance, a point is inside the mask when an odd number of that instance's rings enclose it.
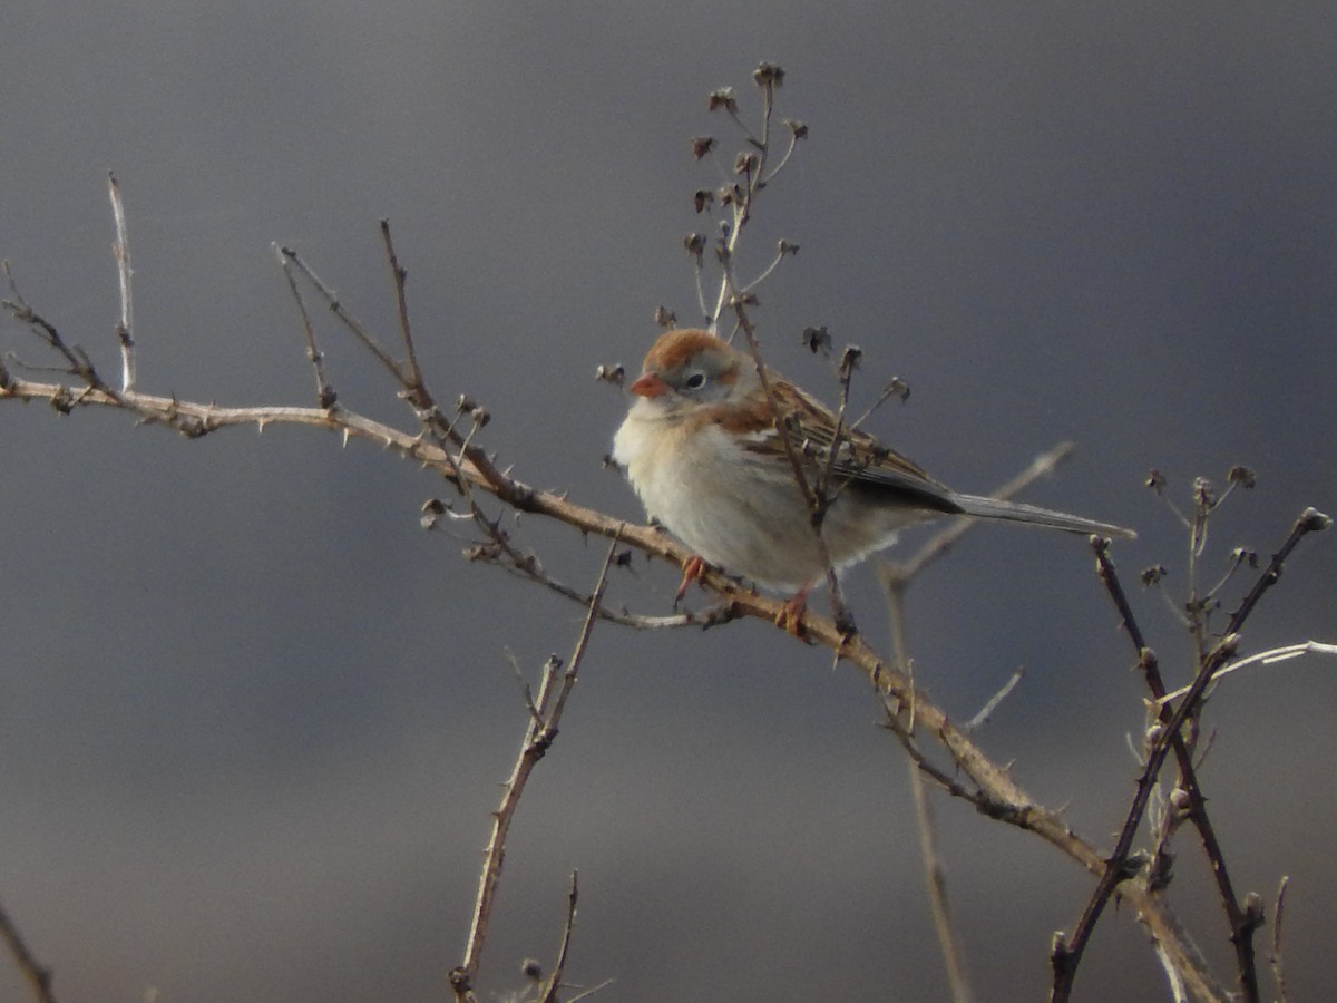
<instances>
[{"instance_id":1,"label":"small sparrow with rusty cap and orange beak on thorny branch","mask_svg":"<svg viewBox=\"0 0 1337 1003\"><path fill-rule=\"evenodd\" d=\"M902 527L928 519L975 516L1108 538L1136 535L1067 512L952 491L707 330L659 336L628 389L634 401L614 436L612 459L647 515L693 551L683 562L679 600L714 566L792 592L777 622L783 618L797 633L806 598L828 566L842 571L894 543Z\"/></svg>"}]
</instances>

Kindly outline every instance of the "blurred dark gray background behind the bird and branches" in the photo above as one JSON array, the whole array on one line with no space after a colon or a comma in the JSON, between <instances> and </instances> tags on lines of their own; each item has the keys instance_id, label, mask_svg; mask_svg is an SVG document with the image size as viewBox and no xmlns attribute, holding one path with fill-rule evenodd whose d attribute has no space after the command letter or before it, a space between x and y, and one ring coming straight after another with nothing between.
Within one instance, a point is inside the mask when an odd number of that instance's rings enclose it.
<instances>
[{"instance_id":1,"label":"blurred dark gray background behind the bird and branches","mask_svg":"<svg viewBox=\"0 0 1337 1003\"><path fill-rule=\"evenodd\" d=\"M390 336L389 217L439 395L487 404L517 476L639 518L600 469L624 400L594 369L639 364L655 306L693 317L681 239L717 175L689 138L729 138L706 94L754 110L769 59L781 114L812 127L750 245L753 265L802 246L761 290L771 362L832 396L798 332L861 345L864 400L913 388L873 431L961 489L1075 439L1028 497L1138 527L1115 556L1171 679L1189 639L1135 576L1163 563L1179 595L1186 534L1147 468L1181 503L1195 475L1257 469L1213 523L1209 580L1337 508L1329 5L11 0L4 20L0 255L115 372L114 169L146 391L312 404L270 242ZM408 427L322 330L341 401ZM48 361L8 318L0 346ZM60 998L445 998L524 726L505 653L568 653L580 610L425 535L444 485L365 444L187 443L15 403L0 436L0 900ZM517 538L594 582L602 543ZM1301 548L1246 650L1337 641L1334 544ZM664 611L675 583L638 562L610 599ZM885 643L866 568L850 599ZM1103 845L1142 723L1116 626L1063 535L983 528L910 596L919 678L956 717L1025 667L981 742ZM1270 904L1292 877L1296 999L1337 979L1334 667L1249 673L1209 710L1235 881ZM579 868L568 974L615 979L600 999L945 999L904 757L876 725L853 673L761 625L600 627L520 808L485 996L552 958ZM1088 877L961 805L937 816L980 998L1042 998ZM1226 963L1179 849L1174 900ZM1108 913L1079 998L1163 996ZM0 999L23 998L0 963Z\"/></svg>"}]
</instances>

